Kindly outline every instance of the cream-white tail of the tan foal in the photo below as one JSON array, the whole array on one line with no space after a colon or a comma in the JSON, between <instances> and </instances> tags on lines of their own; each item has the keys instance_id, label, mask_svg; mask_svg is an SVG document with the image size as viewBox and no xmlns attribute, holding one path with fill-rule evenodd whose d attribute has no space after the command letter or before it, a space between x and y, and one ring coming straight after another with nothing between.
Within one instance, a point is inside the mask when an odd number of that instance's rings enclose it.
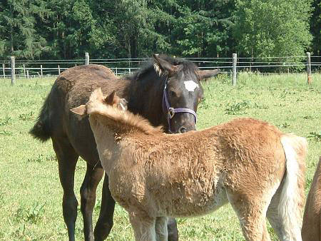
<instances>
[{"instance_id":1,"label":"cream-white tail of the tan foal","mask_svg":"<svg viewBox=\"0 0 321 241\"><path fill-rule=\"evenodd\" d=\"M305 156L307 155L307 140L293 134L281 137L285 152L286 171L280 193L278 212L284 220L287 232L285 239L302 240L302 210L305 202Z\"/></svg>"}]
</instances>

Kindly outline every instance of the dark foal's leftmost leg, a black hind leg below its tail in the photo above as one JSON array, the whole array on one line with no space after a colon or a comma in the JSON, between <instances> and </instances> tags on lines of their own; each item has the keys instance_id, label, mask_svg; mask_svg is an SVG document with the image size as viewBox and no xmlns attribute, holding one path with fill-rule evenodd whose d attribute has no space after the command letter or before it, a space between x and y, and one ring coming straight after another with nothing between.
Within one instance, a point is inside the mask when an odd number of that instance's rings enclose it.
<instances>
[{"instance_id":1,"label":"dark foal's leftmost leg, a black hind leg below its tail","mask_svg":"<svg viewBox=\"0 0 321 241\"><path fill-rule=\"evenodd\" d=\"M63 220L66 223L70 241L75 240L75 223L77 218L77 199L73 192L74 175L78 154L66 139L52 138L58 159L59 178L63 188Z\"/></svg>"}]
</instances>

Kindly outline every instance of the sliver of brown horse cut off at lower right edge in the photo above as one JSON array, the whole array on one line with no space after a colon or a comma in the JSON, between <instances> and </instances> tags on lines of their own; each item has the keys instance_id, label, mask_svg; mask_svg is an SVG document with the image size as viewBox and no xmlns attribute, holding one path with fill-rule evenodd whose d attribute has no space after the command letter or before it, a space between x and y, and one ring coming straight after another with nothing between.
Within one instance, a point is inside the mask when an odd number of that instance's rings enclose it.
<instances>
[{"instance_id":1,"label":"sliver of brown horse cut off at lower right edge","mask_svg":"<svg viewBox=\"0 0 321 241\"><path fill-rule=\"evenodd\" d=\"M315 170L302 224L302 240L321 240L321 157Z\"/></svg>"}]
</instances>

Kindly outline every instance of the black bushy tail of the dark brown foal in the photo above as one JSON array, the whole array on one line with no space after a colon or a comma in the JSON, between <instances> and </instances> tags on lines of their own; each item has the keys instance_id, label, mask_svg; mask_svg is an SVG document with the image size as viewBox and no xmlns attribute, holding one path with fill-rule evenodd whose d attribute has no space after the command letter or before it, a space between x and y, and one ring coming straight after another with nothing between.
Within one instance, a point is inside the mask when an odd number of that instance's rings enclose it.
<instances>
[{"instance_id":1,"label":"black bushy tail of the dark brown foal","mask_svg":"<svg viewBox=\"0 0 321 241\"><path fill-rule=\"evenodd\" d=\"M49 128L49 98L50 93L44 101L44 105L41 108L40 114L34 124L34 127L29 130L29 133L34 136L34 138L45 142L51 136L51 131Z\"/></svg>"}]
</instances>

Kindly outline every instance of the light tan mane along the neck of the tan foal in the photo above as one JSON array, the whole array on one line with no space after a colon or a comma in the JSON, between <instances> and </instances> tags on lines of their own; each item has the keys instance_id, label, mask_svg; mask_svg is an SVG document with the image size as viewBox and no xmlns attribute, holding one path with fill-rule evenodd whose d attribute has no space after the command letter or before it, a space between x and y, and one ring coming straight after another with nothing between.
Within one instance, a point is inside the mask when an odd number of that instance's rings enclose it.
<instances>
[{"instance_id":1,"label":"light tan mane along the neck of the tan foal","mask_svg":"<svg viewBox=\"0 0 321 241\"><path fill-rule=\"evenodd\" d=\"M145 118L134 115L130 111L121 111L104 103L101 88L93 91L86 105L86 110L89 115L96 114L113 120L115 125L123 130L136 130L147 135L163 133L161 127L154 127Z\"/></svg>"}]
</instances>

